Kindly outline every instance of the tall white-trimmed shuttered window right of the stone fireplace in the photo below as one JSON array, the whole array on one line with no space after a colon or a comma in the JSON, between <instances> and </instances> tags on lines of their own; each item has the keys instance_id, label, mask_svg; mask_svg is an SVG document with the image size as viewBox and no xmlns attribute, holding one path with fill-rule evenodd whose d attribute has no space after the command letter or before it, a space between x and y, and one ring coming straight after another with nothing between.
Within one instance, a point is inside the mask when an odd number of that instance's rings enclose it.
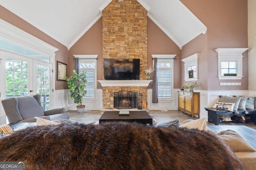
<instances>
[{"instance_id":1,"label":"tall white-trimmed shuttered window right of the stone fireplace","mask_svg":"<svg viewBox=\"0 0 256 170\"><path fill-rule=\"evenodd\" d=\"M152 55L157 57L158 100L172 100L173 59L176 55Z\"/></svg>"}]
</instances>

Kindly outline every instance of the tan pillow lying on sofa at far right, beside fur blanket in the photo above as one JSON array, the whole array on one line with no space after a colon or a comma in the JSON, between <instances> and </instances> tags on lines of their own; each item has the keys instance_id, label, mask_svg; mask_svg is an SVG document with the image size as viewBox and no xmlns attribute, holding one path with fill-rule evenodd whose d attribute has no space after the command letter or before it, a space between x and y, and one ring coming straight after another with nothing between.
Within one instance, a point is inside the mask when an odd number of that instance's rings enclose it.
<instances>
[{"instance_id":1,"label":"tan pillow lying on sofa at far right, beside fur blanket","mask_svg":"<svg viewBox=\"0 0 256 170\"><path fill-rule=\"evenodd\" d=\"M236 131L226 130L217 134L234 152L255 152L256 150Z\"/></svg>"}]
</instances>

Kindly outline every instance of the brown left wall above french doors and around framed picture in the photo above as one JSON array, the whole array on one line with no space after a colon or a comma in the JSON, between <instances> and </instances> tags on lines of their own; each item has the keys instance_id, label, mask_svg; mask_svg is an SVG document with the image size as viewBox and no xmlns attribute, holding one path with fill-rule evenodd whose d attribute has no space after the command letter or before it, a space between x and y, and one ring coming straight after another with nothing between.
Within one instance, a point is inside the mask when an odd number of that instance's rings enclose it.
<instances>
[{"instance_id":1,"label":"brown left wall above french doors and around framed picture","mask_svg":"<svg viewBox=\"0 0 256 170\"><path fill-rule=\"evenodd\" d=\"M34 35L38 39L41 39L42 41L56 47L59 49L55 54L55 61L60 61L62 63L68 64L68 49L58 41L54 40L50 36L46 35L30 23L26 22L25 20L22 20L20 17L16 16L6 8L0 6L0 18L20 29L23 31L26 31L27 33ZM56 80L55 80L56 81ZM55 82L55 89L67 89L67 83L63 81L56 81Z\"/></svg>"}]
</instances>

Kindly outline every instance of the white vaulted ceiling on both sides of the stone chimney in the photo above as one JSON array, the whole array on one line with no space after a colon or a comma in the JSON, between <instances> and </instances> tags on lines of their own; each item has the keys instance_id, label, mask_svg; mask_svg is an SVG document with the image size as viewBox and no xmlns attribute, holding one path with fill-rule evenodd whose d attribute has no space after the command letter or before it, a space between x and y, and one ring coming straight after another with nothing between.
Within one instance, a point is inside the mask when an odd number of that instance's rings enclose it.
<instances>
[{"instance_id":1,"label":"white vaulted ceiling on both sides of the stone chimney","mask_svg":"<svg viewBox=\"0 0 256 170\"><path fill-rule=\"evenodd\" d=\"M111 1L0 0L0 5L70 49L102 16L102 10ZM180 0L137 1L148 11L148 17L180 48L199 34L206 33L206 26Z\"/></svg>"}]
</instances>

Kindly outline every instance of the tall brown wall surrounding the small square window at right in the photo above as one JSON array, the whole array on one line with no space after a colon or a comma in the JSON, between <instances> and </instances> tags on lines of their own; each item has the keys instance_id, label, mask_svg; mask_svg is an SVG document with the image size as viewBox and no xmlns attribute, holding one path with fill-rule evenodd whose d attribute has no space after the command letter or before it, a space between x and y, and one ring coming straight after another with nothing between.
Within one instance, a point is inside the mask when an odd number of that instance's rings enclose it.
<instances>
[{"instance_id":1,"label":"tall brown wall surrounding the small square window at right","mask_svg":"<svg viewBox=\"0 0 256 170\"><path fill-rule=\"evenodd\" d=\"M207 27L206 41L207 57L199 61L200 76L198 82L202 90L248 90L248 52L243 53L242 80L218 80L217 78L217 48L247 48L247 0L180 0ZM186 49L186 46L190 46ZM182 54L198 49L195 41L182 48ZM204 49L205 50L205 49ZM185 52L186 51L186 52ZM201 53L201 51L198 51ZM182 56L186 57L186 56ZM207 62L205 62L207 61ZM206 68L207 67L207 68ZM202 70L202 68L204 68ZM207 70L207 76L205 76ZM202 77L201 77L202 75ZM220 82L241 82L241 86L220 86Z\"/></svg>"}]
</instances>

